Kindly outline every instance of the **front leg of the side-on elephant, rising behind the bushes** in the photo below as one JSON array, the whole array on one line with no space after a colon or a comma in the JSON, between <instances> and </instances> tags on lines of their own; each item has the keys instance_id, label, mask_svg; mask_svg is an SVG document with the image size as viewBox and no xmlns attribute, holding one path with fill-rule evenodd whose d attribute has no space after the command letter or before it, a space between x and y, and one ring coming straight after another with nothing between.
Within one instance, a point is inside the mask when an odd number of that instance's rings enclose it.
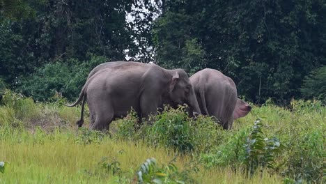
<instances>
[{"instance_id":1,"label":"front leg of the side-on elephant, rising behind the bushes","mask_svg":"<svg viewBox=\"0 0 326 184\"><path fill-rule=\"evenodd\" d=\"M153 124L153 120L150 120L150 116L157 115L157 107L160 105L161 98L157 95L141 95L140 98L140 107L141 107L141 118L145 118L145 121L148 121L150 124Z\"/></svg>"}]
</instances>

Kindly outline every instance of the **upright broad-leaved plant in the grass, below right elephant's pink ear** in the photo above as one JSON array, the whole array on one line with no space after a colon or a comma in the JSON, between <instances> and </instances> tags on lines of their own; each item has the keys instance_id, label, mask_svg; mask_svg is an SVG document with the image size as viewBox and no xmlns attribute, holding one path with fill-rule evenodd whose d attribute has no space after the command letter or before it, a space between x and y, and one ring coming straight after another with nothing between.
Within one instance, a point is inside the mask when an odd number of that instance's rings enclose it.
<instances>
[{"instance_id":1,"label":"upright broad-leaved plant in the grass, below right elephant's pink ear","mask_svg":"<svg viewBox=\"0 0 326 184\"><path fill-rule=\"evenodd\" d=\"M251 173L254 173L258 167L274 168L275 157L282 150L279 139L265 137L261 119L255 121L244 148L246 148L244 164Z\"/></svg>"}]
</instances>

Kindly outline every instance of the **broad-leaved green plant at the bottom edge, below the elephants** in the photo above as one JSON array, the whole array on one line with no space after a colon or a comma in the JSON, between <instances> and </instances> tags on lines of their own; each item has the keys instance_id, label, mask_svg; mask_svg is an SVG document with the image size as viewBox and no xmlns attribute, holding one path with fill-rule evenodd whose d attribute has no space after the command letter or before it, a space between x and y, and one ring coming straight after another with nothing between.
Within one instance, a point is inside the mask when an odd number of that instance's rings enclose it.
<instances>
[{"instance_id":1,"label":"broad-leaved green plant at the bottom edge, below the elephants","mask_svg":"<svg viewBox=\"0 0 326 184\"><path fill-rule=\"evenodd\" d=\"M196 183L190 176L191 172L198 169L179 171L175 164L169 163L165 167L159 167L155 158L148 158L139 171L137 171L138 183Z\"/></svg>"}]
</instances>

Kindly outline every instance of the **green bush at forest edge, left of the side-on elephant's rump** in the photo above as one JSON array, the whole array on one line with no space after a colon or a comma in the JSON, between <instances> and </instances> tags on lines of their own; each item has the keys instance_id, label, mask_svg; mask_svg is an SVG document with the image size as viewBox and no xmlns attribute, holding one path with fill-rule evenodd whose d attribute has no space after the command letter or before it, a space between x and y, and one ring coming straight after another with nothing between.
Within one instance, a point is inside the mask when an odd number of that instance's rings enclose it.
<instances>
[{"instance_id":1,"label":"green bush at forest edge, left of the side-on elephant's rump","mask_svg":"<svg viewBox=\"0 0 326 184\"><path fill-rule=\"evenodd\" d=\"M86 82L88 73L99 63L107 61L101 56L92 56L90 61L75 59L55 61L38 68L32 75L20 77L17 91L33 96L35 100L49 100L61 93L68 100L76 100Z\"/></svg>"}]
</instances>

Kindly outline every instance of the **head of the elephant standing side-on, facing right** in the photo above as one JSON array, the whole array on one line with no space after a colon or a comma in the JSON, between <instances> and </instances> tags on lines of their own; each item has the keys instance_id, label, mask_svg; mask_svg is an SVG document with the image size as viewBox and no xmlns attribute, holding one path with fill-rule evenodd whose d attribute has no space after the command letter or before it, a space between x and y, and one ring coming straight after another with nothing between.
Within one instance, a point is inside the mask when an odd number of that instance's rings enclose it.
<instances>
[{"instance_id":1,"label":"head of the elephant standing side-on, facing right","mask_svg":"<svg viewBox=\"0 0 326 184\"><path fill-rule=\"evenodd\" d=\"M194 88L189 81L189 77L185 70L172 70L172 79L169 86L169 97L175 105L183 105L186 103L191 112L201 114L199 104L194 93ZM192 116L192 114L189 114Z\"/></svg>"}]
</instances>

